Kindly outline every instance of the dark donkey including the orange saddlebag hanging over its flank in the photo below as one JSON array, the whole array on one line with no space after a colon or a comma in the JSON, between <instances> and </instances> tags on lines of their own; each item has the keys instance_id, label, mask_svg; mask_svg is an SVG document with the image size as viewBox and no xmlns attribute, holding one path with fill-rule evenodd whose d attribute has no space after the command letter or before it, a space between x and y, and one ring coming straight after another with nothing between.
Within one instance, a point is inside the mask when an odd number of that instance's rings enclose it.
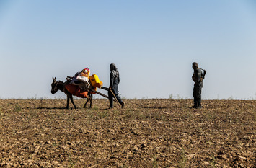
<instances>
[{"instance_id":1,"label":"dark donkey including the orange saddlebag hanging over its flank","mask_svg":"<svg viewBox=\"0 0 256 168\"><path fill-rule=\"evenodd\" d=\"M92 107L92 91L84 91L81 90L79 86L69 84L70 81L57 81L56 77L53 78L53 83L51 84L51 93L55 94L58 92L58 90L61 90L61 92L64 92L67 97L67 104L66 108L69 108L69 100L71 100L71 103L74 105L74 108L76 108L76 105L74 104L73 96L81 97L81 98L87 98L87 102L84 104L84 108L87 106L87 103L90 101L90 108Z\"/></svg>"}]
</instances>

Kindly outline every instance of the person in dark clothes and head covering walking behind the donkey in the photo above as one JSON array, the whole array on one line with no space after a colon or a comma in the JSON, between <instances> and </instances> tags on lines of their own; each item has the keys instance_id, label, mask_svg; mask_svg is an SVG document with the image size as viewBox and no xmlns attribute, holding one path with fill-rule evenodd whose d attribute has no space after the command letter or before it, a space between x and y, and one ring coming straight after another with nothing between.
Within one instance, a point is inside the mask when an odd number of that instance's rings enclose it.
<instances>
[{"instance_id":1,"label":"person in dark clothes and head covering walking behind the donkey","mask_svg":"<svg viewBox=\"0 0 256 168\"><path fill-rule=\"evenodd\" d=\"M118 68L116 68L114 63L110 64L110 87L108 89L108 99L110 100L110 109L113 107L113 98L115 97L122 108L125 103L118 96L118 84L120 83L120 76L118 72Z\"/></svg>"}]
</instances>

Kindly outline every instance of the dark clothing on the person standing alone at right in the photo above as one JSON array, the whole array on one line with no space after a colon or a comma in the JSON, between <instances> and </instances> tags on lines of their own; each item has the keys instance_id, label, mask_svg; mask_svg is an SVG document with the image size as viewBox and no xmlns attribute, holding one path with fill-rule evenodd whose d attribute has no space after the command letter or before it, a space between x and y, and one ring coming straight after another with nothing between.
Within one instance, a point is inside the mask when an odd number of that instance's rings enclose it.
<instances>
[{"instance_id":1,"label":"dark clothing on the person standing alone at right","mask_svg":"<svg viewBox=\"0 0 256 168\"><path fill-rule=\"evenodd\" d=\"M193 89L194 107L201 106L201 93L203 88L203 72L200 68L194 69L193 81L195 81Z\"/></svg>"}]
</instances>

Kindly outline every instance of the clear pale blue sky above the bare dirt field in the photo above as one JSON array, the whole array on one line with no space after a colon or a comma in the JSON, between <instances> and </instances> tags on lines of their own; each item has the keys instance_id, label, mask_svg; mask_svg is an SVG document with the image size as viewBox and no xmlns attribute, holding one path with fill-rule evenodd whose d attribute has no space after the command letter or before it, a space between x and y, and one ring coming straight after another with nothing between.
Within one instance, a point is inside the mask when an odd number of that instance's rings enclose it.
<instances>
[{"instance_id":1,"label":"clear pale blue sky above the bare dirt field","mask_svg":"<svg viewBox=\"0 0 256 168\"><path fill-rule=\"evenodd\" d=\"M256 99L255 45L254 0L0 0L0 98L64 97L52 77L87 67L108 87L110 63L123 98L192 98L196 61L203 99Z\"/></svg>"}]
</instances>

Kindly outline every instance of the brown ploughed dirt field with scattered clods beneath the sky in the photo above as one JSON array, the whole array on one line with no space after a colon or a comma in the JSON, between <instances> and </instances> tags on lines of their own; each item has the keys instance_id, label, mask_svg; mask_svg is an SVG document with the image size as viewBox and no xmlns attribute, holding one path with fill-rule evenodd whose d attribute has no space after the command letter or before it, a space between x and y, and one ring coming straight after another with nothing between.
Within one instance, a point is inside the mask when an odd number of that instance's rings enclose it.
<instances>
[{"instance_id":1,"label":"brown ploughed dirt field with scattered clods beneath the sky","mask_svg":"<svg viewBox=\"0 0 256 168\"><path fill-rule=\"evenodd\" d=\"M0 100L0 167L256 165L256 100L84 102Z\"/></svg>"}]
</instances>

